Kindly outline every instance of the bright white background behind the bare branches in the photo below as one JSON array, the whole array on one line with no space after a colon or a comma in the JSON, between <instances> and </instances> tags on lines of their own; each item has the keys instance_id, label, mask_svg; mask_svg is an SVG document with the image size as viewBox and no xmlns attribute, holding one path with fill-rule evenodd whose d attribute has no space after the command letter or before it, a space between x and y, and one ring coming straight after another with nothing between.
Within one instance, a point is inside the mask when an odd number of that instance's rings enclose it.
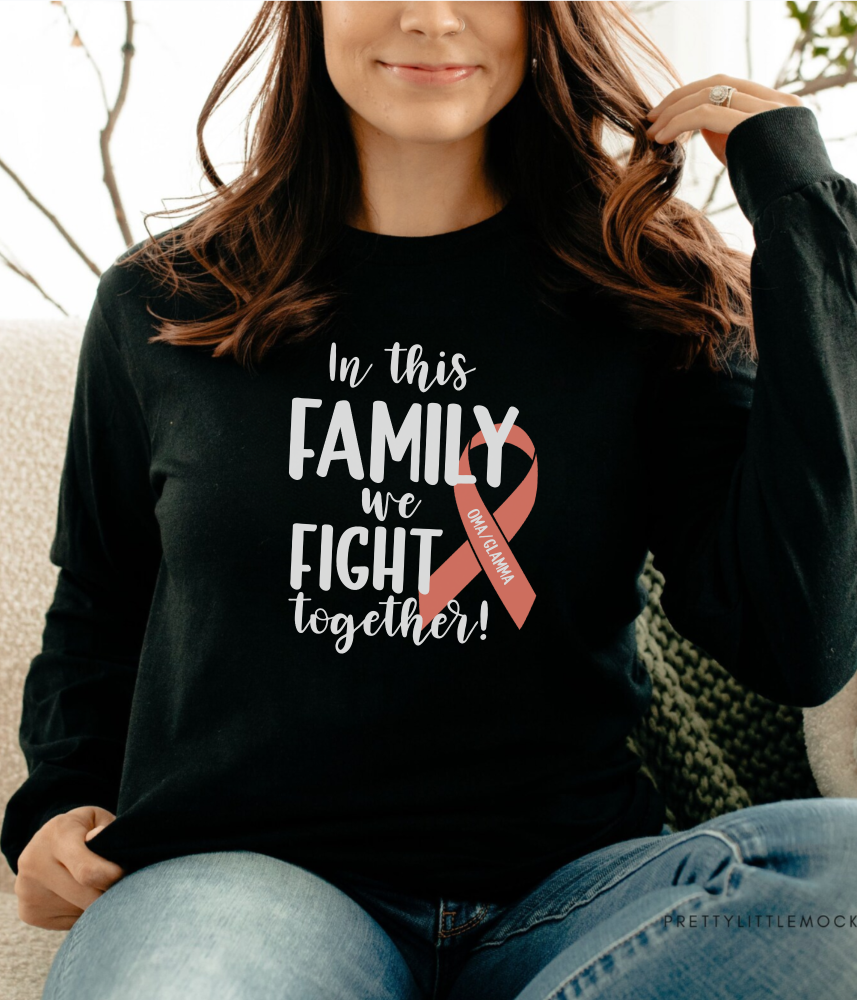
<instances>
[{"instance_id":1,"label":"bright white background behind the bare branches","mask_svg":"<svg viewBox=\"0 0 857 1000\"><path fill-rule=\"evenodd\" d=\"M748 76L744 0L675 0L644 18L647 30L685 82L716 72ZM129 98L112 151L135 239L145 236L143 213L198 193L195 127L217 73L258 5L246 0L137 0L136 54ZM753 0L751 79L770 85L794 38L780 0ZM119 83L124 10L118 0L71 0L71 17L98 62L112 100ZM59 5L46 0L0 4L0 157L54 211L103 269L124 249L101 181L98 136L105 112L92 66L72 47ZM218 111L206 137L225 177L242 148L241 119L252 81ZM811 107L826 139L857 130L857 85L830 91ZM834 166L857 177L857 140L829 142ZM682 197L701 203L719 162L696 136ZM172 200L179 199L179 200ZM717 204L731 201L728 180ZM749 251L752 234L739 210L714 217L733 245ZM171 223L157 218L152 232ZM72 315L85 316L96 278L41 214L0 172L0 249L32 271ZM0 316L56 316L42 296L0 265Z\"/></svg>"}]
</instances>

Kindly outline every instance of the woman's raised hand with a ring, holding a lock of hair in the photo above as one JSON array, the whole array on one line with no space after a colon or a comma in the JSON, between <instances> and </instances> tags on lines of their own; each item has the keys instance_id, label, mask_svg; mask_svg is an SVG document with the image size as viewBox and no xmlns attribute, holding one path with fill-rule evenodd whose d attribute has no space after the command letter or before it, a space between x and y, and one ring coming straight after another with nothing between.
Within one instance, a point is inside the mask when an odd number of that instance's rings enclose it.
<instances>
[{"instance_id":1,"label":"woman's raised hand with a ring, holding a lock of hair","mask_svg":"<svg viewBox=\"0 0 857 1000\"><path fill-rule=\"evenodd\" d=\"M734 87L732 101L725 105L712 104L709 91L718 85ZM702 133L712 153L726 166L726 140L729 133L745 118L786 105L800 105L803 101L794 94L763 87L752 80L717 73L704 80L694 80L684 87L677 87L656 104L646 115L653 124L646 135L655 142L674 142L685 132Z\"/></svg>"}]
</instances>

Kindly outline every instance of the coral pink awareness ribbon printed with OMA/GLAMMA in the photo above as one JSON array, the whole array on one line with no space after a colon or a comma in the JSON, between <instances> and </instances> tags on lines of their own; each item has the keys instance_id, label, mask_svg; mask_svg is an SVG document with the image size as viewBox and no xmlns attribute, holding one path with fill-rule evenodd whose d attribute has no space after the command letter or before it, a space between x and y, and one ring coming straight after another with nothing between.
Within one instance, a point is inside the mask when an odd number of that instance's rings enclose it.
<instances>
[{"instance_id":1,"label":"coral pink awareness ribbon printed with OMA/GLAMMA","mask_svg":"<svg viewBox=\"0 0 857 1000\"><path fill-rule=\"evenodd\" d=\"M500 430L500 427L500 424L494 425L495 430ZM533 460L533 464L511 496L494 511L493 517L485 510L482 497L473 483L457 483L453 487L467 541L432 573L429 592L420 594L419 613L423 628L444 610L448 601L464 590L480 570L488 574L488 579L518 628L530 613L536 594L512 554L509 539L515 536L515 532L533 509L538 483L536 449L529 435L517 424L512 425L505 443L520 448ZM471 474L469 451L480 444L485 444L482 431L470 439L461 453L458 463L460 476Z\"/></svg>"}]
</instances>

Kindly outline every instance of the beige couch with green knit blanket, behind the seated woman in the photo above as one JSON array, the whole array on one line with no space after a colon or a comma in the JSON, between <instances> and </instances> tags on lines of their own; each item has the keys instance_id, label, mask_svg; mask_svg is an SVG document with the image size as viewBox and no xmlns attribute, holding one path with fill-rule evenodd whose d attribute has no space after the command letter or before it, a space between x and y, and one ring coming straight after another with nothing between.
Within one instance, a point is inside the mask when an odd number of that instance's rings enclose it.
<instances>
[{"instance_id":1,"label":"beige couch with green knit blanket, behind the seated woman","mask_svg":"<svg viewBox=\"0 0 857 1000\"><path fill-rule=\"evenodd\" d=\"M72 319L0 322L0 808L27 773L22 687L56 583L48 549L82 332ZM757 802L857 796L857 677L815 709L769 702L672 629L651 556L642 582L649 599L637 641L654 692L628 742L662 790L673 829ZM23 923L14 881L0 858L0 997L39 1000L67 931Z\"/></svg>"}]
</instances>

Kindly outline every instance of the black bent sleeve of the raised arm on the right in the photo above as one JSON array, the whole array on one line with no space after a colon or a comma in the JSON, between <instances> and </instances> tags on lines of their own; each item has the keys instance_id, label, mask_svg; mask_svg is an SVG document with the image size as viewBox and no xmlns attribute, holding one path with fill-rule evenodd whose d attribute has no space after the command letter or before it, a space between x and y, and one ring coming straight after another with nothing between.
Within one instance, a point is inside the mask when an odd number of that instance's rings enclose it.
<instances>
[{"instance_id":1,"label":"black bent sleeve of the raised arm on the right","mask_svg":"<svg viewBox=\"0 0 857 1000\"><path fill-rule=\"evenodd\" d=\"M661 381L647 544L673 627L808 708L857 672L857 186L805 106L743 120L726 156L758 362L731 349L726 373Z\"/></svg>"}]
</instances>

